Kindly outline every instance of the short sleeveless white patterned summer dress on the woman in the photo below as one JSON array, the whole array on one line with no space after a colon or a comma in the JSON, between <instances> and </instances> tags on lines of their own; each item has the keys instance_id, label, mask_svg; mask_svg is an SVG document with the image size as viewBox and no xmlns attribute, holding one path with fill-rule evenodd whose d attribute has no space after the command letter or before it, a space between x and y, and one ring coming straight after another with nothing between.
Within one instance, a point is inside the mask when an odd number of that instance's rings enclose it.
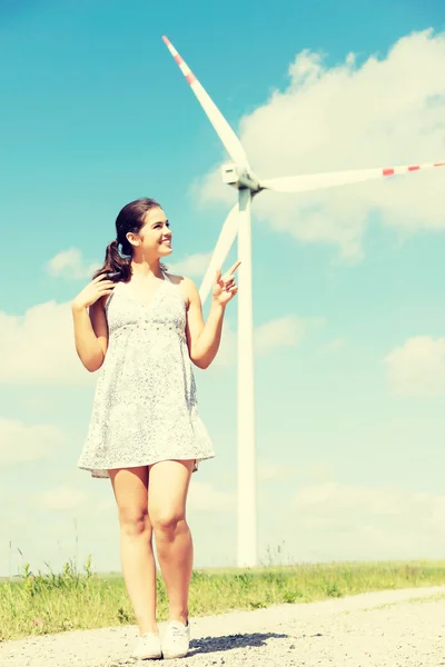
<instances>
[{"instance_id":1,"label":"short sleeveless white patterned summer dress on the woman","mask_svg":"<svg viewBox=\"0 0 445 667\"><path fill-rule=\"evenodd\" d=\"M215 456L197 407L186 305L167 273L142 305L118 282L106 305L109 341L78 467L92 477L168 459Z\"/></svg>"}]
</instances>

